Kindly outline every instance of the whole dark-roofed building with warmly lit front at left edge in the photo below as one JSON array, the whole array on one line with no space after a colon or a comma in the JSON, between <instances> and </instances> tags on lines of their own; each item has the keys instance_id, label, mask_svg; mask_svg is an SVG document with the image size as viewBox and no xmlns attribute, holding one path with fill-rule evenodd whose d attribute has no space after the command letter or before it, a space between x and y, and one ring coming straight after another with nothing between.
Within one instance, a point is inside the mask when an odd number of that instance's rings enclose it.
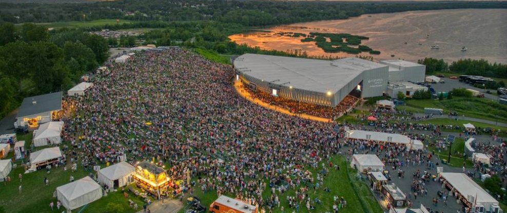
<instances>
[{"instance_id":1,"label":"whole dark-roofed building with warmly lit front at left edge","mask_svg":"<svg viewBox=\"0 0 507 213\"><path fill-rule=\"evenodd\" d=\"M23 99L14 127L37 127L49 122L62 110L62 92L37 95Z\"/></svg>"}]
</instances>

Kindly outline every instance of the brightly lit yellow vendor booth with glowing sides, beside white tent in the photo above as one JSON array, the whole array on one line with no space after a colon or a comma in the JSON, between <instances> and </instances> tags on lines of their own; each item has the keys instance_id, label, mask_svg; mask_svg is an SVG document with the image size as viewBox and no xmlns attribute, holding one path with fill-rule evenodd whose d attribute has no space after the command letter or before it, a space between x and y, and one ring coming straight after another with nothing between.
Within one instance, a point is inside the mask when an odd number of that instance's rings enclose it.
<instances>
[{"instance_id":1,"label":"brightly lit yellow vendor booth with glowing sides, beside white tent","mask_svg":"<svg viewBox=\"0 0 507 213\"><path fill-rule=\"evenodd\" d=\"M168 194L169 177L165 169L148 162L140 162L135 166L133 176L135 185L146 190L148 193L160 198Z\"/></svg>"}]
</instances>

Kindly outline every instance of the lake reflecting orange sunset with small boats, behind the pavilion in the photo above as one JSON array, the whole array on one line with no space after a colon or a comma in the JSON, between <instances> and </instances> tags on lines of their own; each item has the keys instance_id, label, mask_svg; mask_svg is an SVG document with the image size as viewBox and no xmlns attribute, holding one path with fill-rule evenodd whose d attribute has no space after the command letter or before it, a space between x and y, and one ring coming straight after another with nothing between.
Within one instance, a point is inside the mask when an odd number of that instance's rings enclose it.
<instances>
[{"instance_id":1,"label":"lake reflecting orange sunset with small boats, behind the pavilion","mask_svg":"<svg viewBox=\"0 0 507 213\"><path fill-rule=\"evenodd\" d=\"M458 9L367 14L344 20L296 23L246 34L231 35L238 44L267 50L302 50L314 56L354 56L325 53L303 37L280 36L278 32L350 33L369 37L362 45L381 51L376 60L424 57L454 61L484 58L507 63L507 9ZM405 44L406 42L406 44ZM431 49L438 45L439 49ZM466 47L467 51L461 51ZM361 55L370 55L361 53ZM394 55L394 56L393 56Z\"/></svg>"}]
</instances>

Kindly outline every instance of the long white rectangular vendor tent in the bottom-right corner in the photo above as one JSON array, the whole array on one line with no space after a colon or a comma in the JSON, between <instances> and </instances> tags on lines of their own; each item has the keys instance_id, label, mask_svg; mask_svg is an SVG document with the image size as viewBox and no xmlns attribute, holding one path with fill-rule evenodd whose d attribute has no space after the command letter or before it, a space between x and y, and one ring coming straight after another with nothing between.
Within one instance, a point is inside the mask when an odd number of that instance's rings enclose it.
<instances>
[{"instance_id":1,"label":"long white rectangular vendor tent in the bottom-right corner","mask_svg":"<svg viewBox=\"0 0 507 213\"><path fill-rule=\"evenodd\" d=\"M445 187L455 193L467 208L482 207L489 211L498 201L464 173L441 173ZM482 211L485 212L485 211Z\"/></svg>"}]
</instances>

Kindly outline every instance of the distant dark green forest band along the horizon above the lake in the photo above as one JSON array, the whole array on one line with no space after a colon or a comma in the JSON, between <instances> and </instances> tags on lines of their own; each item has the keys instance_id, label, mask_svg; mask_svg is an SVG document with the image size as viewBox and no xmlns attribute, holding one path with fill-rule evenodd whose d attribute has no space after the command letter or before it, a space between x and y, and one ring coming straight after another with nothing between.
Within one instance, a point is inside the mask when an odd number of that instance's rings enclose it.
<instances>
[{"instance_id":1,"label":"distant dark green forest band along the horizon above the lake","mask_svg":"<svg viewBox=\"0 0 507 213\"><path fill-rule=\"evenodd\" d=\"M124 0L87 4L0 3L0 20L12 23L122 18L138 21L216 20L266 26L343 19L366 13L461 8L507 8L506 2L280 2L226 0Z\"/></svg>"}]
</instances>

